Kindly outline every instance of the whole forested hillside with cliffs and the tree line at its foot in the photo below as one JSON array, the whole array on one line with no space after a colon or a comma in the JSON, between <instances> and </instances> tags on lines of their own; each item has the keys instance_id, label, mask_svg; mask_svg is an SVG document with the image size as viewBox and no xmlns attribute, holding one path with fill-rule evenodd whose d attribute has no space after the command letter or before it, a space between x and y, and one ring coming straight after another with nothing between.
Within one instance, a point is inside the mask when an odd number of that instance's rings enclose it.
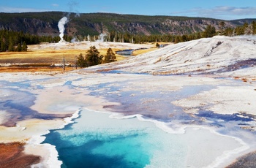
<instances>
[{"instance_id":1,"label":"whole forested hillside with cliffs and the tree line at its foot","mask_svg":"<svg viewBox=\"0 0 256 168\"><path fill-rule=\"evenodd\" d=\"M63 12L0 13L0 52L26 51L26 45L59 42L58 23L63 16L64 40L95 41L105 34L108 42L187 42L214 35L256 34L255 19L215 20L170 16L118 15Z\"/></svg>"}]
</instances>

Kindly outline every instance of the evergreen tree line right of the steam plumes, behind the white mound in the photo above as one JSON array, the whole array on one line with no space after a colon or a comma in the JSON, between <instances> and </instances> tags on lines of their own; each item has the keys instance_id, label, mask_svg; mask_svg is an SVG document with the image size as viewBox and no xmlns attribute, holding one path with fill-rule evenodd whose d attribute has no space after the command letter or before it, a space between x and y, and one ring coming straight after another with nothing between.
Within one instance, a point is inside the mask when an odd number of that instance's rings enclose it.
<instances>
[{"instance_id":1,"label":"evergreen tree line right of the steam plumes, behind the white mound","mask_svg":"<svg viewBox=\"0 0 256 168\"><path fill-rule=\"evenodd\" d=\"M216 30L214 26L208 25L206 29L201 32L197 32L194 34L152 34L152 35L144 35L144 34L128 34L128 33L120 33L117 31L110 31L107 36L105 36L105 41L107 42L130 42L130 43L145 43L145 42L187 42L194 39L200 38L208 38L214 37L215 35L224 35L224 36L239 36L239 35L255 35L256 34L256 22L252 21L252 23L244 23L243 26L236 26L235 28L231 28L225 26L225 22L219 23L219 31ZM91 37L91 41L94 41L97 37Z\"/></svg>"}]
</instances>

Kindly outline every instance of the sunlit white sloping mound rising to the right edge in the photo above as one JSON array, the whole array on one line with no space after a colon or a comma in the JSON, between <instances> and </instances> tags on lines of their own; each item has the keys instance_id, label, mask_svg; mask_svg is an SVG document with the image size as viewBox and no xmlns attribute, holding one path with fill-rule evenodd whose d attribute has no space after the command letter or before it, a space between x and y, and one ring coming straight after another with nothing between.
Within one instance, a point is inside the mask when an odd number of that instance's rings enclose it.
<instances>
[{"instance_id":1,"label":"sunlit white sloping mound rising to the right edge","mask_svg":"<svg viewBox=\"0 0 256 168\"><path fill-rule=\"evenodd\" d=\"M154 75L217 74L253 78L256 76L256 37L197 39L90 69Z\"/></svg>"}]
</instances>

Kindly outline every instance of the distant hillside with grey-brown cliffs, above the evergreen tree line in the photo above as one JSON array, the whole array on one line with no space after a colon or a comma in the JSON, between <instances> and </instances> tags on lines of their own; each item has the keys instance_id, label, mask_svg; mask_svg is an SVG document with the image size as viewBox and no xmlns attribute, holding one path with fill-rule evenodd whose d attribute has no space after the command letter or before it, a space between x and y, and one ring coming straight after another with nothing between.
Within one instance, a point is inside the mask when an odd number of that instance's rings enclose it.
<instances>
[{"instance_id":1,"label":"distant hillside with grey-brown cliffs, above the evergreen tree line","mask_svg":"<svg viewBox=\"0 0 256 168\"><path fill-rule=\"evenodd\" d=\"M63 12L0 13L0 29L23 31L29 34L58 36L58 22ZM171 16L118 15L111 13L80 14L69 16L65 34L97 35L117 31L129 34L191 34L203 31L207 25L219 29L219 22L234 27L242 22L211 18L188 18Z\"/></svg>"}]
</instances>

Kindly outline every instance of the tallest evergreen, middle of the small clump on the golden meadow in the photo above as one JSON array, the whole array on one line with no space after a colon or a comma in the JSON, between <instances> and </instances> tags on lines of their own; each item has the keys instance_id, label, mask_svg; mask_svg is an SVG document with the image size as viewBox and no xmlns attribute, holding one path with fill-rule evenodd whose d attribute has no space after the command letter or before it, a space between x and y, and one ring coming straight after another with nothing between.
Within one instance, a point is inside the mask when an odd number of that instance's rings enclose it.
<instances>
[{"instance_id":1,"label":"tallest evergreen, middle of the small clump on the golden meadow","mask_svg":"<svg viewBox=\"0 0 256 168\"><path fill-rule=\"evenodd\" d=\"M86 51L86 61L89 66L102 64L102 58L103 56L99 56L99 51L95 46L91 46L90 49Z\"/></svg>"}]
</instances>

